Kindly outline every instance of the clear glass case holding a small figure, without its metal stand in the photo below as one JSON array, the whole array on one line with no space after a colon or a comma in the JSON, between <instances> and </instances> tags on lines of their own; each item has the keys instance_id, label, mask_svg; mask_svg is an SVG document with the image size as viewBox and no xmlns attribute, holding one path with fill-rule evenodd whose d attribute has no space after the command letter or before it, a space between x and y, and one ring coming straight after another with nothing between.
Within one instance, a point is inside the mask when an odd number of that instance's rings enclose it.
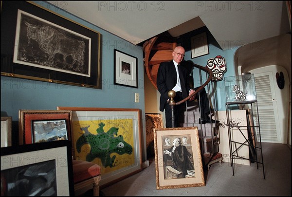
<instances>
[{"instance_id":1,"label":"clear glass case holding a small figure, without its metal stand","mask_svg":"<svg viewBox=\"0 0 292 197\"><path fill-rule=\"evenodd\" d=\"M251 73L224 78L226 102L255 102L255 77Z\"/></svg>"}]
</instances>

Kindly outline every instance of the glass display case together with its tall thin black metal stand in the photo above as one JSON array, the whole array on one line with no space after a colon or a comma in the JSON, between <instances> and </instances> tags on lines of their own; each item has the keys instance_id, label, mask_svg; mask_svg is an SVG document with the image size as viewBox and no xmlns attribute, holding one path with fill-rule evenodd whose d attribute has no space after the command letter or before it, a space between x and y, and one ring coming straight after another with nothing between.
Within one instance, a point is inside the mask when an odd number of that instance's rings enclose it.
<instances>
[{"instance_id":1,"label":"glass display case together with its tall thin black metal stand","mask_svg":"<svg viewBox=\"0 0 292 197\"><path fill-rule=\"evenodd\" d=\"M239 126L228 124L228 138L229 138L229 151L230 151L230 161L232 165L232 171L234 175L234 160L242 159L256 162L257 169L259 168L258 164L262 164L263 176L265 179L265 170L264 170L264 159L262 152L261 144L261 135L260 135L260 125L259 125L259 116L258 116L258 107L256 100L256 86L255 86L255 77L251 73L243 73L238 76L231 76L224 78L225 90L226 90L226 118L228 123L232 123L233 117L231 117L231 110L236 109L238 105L244 104L244 108L247 113L247 125ZM255 107L255 109L253 109ZM254 112L256 117L254 117ZM254 122L256 121L256 123ZM247 128L248 137L245 137L241 128ZM234 129L236 128L236 129ZM256 139L257 130L259 138ZM234 139L236 135L234 132L241 133L244 136L244 142L238 142ZM238 155L238 150L242 146L248 146L250 150L250 156L252 159L247 159ZM260 152L260 157L257 155L257 151Z\"/></svg>"}]
</instances>

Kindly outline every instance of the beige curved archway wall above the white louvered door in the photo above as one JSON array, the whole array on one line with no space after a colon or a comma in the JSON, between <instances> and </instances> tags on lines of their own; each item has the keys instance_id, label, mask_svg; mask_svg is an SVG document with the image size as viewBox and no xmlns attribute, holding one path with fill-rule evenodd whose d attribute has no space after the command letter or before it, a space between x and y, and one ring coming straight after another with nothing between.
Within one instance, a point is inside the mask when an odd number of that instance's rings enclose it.
<instances>
[{"instance_id":1,"label":"beige curved archway wall above the white louvered door","mask_svg":"<svg viewBox=\"0 0 292 197\"><path fill-rule=\"evenodd\" d=\"M259 68L265 70L264 67L271 65L281 66L287 71L288 79L285 79L285 86L289 86L288 95L290 95L287 106L287 108L289 107L289 114L286 117L288 125L287 143L291 145L291 34L275 36L244 45L237 49L234 62L238 74Z\"/></svg>"}]
</instances>

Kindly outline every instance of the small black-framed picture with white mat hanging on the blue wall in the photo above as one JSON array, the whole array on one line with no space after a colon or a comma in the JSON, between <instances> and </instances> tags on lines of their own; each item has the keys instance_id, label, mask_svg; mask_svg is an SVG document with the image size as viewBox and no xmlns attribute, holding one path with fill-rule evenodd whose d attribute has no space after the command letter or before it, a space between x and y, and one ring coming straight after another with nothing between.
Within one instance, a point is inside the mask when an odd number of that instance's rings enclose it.
<instances>
[{"instance_id":1,"label":"small black-framed picture with white mat hanging on the blue wall","mask_svg":"<svg viewBox=\"0 0 292 197\"><path fill-rule=\"evenodd\" d=\"M138 59L114 49L114 84L138 88Z\"/></svg>"}]
</instances>

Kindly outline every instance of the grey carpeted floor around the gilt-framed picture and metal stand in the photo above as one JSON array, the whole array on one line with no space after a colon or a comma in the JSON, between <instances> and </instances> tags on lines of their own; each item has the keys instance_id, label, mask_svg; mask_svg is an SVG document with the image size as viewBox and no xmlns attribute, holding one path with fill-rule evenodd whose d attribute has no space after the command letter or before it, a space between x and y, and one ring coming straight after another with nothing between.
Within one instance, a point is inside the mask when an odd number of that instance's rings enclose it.
<instances>
[{"instance_id":1,"label":"grey carpeted floor around the gilt-framed picture and metal stand","mask_svg":"<svg viewBox=\"0 0 292 197\"><path fill-rule=\"evenodd\" d=\"M204 170L205 186L178 189L156 189L155 162L126 179L101 188L101 196L291 196L291 146L262 143L265 177L262 165L214 163Z\"/></svg>"}]
</instances>

